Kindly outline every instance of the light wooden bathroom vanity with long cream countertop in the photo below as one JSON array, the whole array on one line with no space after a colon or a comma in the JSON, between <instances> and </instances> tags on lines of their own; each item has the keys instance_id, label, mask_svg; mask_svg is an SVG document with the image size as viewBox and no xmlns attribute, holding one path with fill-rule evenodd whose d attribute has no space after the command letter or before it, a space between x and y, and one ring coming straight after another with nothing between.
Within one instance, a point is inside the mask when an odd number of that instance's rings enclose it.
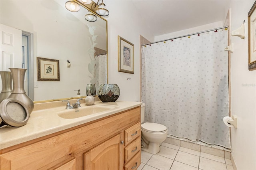
<instances>
[{"instance_id":1,"label":"light wooden bathroom vanity with long cream countertop","mask_svg":"<svg viewBox=\"0 0 256 170\"><path fill-rule=\"evenodd\" d=\"M47 103L35 104L38 110L27 125L0 129L0 170L130 170L140 165L141 103L98 101L95 106L111 109L75 118L63 118L76 109L69 113L58 104L49 109L40 109ZM86 107L81 103L81 111Z\"/></svg>"}]
</instances>

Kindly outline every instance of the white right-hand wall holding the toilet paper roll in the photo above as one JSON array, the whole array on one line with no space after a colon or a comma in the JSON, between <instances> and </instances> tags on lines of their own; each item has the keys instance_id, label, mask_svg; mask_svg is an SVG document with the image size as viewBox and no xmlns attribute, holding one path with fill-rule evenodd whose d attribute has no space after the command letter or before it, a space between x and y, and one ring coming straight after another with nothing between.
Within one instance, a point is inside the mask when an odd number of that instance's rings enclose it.
<instances>
[{"instance_id":1,"label":"white right-hand wall holding the toilet paper roll","mask_svg":"<svg viewBox=\"0 0 256 170\"><path fill-rule=\"evenodd\" d=\"M256 169L256 70L248 71L248 12L253 1L231 2L231 31L245 20L246 37L231 37L231 113L238 128L231 128L232 156L238 170ZM251 86L252 85L252 86Z\"/></svg>"}]
</instances>

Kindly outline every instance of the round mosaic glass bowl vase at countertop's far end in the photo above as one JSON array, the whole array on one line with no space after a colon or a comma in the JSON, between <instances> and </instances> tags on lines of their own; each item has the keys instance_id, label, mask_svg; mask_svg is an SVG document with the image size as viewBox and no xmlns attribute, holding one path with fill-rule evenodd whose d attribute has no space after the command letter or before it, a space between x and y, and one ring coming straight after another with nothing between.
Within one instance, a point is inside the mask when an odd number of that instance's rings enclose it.
<instances>
[{"instance_id":1,"label":"round mosaic glass bowl vase at countertop's far end","mask_svg":"<svg viewBox=\"0 0 256 170\"><path fill-rule=\"evenodd\" d=\"M98 89L98 97L102 102L115 102L120 95L117 84L101 84Z\"/></svg>"}]
</instances>

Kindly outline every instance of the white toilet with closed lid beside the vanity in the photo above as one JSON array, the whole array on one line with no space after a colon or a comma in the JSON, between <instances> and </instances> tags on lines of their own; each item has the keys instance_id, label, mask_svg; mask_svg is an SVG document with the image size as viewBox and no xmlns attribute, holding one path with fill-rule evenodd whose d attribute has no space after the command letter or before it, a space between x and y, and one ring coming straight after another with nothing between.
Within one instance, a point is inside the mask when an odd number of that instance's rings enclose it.
<instances>
[{"instance_id":1,"label":"white toilet with closed lid beside the vanity","mask_svg":"<svg viewBox=\"0 0 256 170\"><path fill-rule=\"evenodd\" d=\"M144 122L145 103L141 105L141 123ZM156 154L159 152L159 144L167 138L167 128L158 123L141 124L141 150Z\"/></svg>"}]
</instances>

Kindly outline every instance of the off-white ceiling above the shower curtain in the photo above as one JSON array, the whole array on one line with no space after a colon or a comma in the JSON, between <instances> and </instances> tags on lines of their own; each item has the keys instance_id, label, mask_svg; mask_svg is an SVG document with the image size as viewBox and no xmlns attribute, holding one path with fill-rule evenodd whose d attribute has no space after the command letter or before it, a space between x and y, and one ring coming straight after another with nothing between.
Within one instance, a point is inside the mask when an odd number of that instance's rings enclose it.
<instances>
[{"instance_id":1,"label":"off-white ceiling above the shower curtain","mask_svg":"<svg viewBox=\"0 0 256 170\"><path fill-rule=\"evenodd\" d=\"M226 18L230 0L132 0L148 29L159 36Z\"/></svg>"}]
</instances>

